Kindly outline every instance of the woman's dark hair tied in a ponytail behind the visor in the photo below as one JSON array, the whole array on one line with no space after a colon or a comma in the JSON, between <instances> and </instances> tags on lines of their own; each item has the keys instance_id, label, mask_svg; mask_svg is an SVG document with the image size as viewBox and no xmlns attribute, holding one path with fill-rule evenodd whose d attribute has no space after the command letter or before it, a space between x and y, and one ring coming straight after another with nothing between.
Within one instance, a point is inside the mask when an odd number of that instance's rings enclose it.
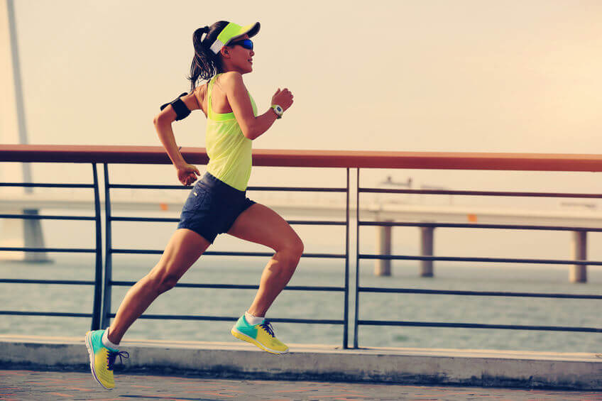
<instances>
[{"instance_id":1,"label":"woman's dark hair tied in a ponytail behind the visor","mask_svg":"<svg viewBox=\"0 0 602 401\"><path fill-rule=\"evenodd\" d=\"M190 65L190 92L195 90L199 79L211 79L223 70L221 57L210 49L217 39L217 35L228 25L228 21L218 21L212 26L198 28L192 34L192 45L195 46L195 56L192 57ZM202 38L204 35L204 38Z\"/></svg>"}]
</instances>

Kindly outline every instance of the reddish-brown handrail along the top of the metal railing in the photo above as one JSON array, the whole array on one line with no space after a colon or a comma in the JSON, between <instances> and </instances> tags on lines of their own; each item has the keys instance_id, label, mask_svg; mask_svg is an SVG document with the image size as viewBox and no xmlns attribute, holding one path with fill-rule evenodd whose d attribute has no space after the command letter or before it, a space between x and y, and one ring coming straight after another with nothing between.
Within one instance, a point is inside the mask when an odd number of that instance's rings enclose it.
<instances>
[{"instance_id":1,"label":"reddish-brown handrail along the top of the metal railing","mask_svg":"<svg viewBox=\"0 0 602 401\"><path fill-rule=\"evenodd\" d=\"M182 154L188 163L208 161L205 148L182 148ZM170 160L161 146L0 145L0 162L156 164ZM602 155L256 149L253 165L602 172Z\"/></svg>"}]
</instances>

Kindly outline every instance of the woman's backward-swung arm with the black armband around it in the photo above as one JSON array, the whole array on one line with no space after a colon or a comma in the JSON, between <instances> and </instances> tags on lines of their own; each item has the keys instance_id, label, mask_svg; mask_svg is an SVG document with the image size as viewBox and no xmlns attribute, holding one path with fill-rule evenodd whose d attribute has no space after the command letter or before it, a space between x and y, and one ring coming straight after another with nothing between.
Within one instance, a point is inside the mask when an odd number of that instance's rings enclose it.
<instances>
[{"instance_id":1,"label":"woman's backward-swung arm with the black armband around it","mask_svg":"<svg viewBox=\"0 0 602 401\"><path fill-rule=\"evenodd\" d=\"M199 104L194 94L188 94L187 96L182 97L182 101L184 101L191 111L199 109ZM171 126L173 121L175 121L175 117L175 111L170 105L165 107L165 109L155 116L153 123L159 136L159 140L163 144L163 148L165 148L165 151L168 153L171 162L177 170L178 180L184 185L190 185L197 180L197 175L200 175L201 173L197 167L186 163L182 157L182 153L180 153L180 150L177 148Z\"/></svg>"}]
</instances>

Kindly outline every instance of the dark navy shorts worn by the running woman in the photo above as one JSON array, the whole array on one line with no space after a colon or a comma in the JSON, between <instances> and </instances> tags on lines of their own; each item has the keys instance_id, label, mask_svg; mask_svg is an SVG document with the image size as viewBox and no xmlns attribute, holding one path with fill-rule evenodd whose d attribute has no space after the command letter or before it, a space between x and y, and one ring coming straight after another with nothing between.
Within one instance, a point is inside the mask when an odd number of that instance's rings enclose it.
<instances>
[{"instance_id":1,"label":"dark navy shorts worn by the running woman","mask_svg":"<svg viewBox=\"0 0 602 401\"><path fill-rule=\"evenodd\" d=\"M206 172L190 191L177 228L195 231L213 243L217 234L228 232L238 216L254 203L245 191Z\"/></svg>"}]
</instances>

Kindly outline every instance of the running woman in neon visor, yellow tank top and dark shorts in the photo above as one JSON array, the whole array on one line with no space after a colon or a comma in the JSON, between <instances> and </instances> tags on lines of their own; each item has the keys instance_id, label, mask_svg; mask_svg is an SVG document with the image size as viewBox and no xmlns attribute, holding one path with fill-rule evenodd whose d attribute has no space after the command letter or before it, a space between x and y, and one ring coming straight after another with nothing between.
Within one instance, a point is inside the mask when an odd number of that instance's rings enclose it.
<instances>
[{"instance_id":1,"label":"running woman in neon visor, yellow tank top and dark shorts","mask_svg":"<svg viewBox=\"0 0 602 401\"><path fill-rule=\"evenodd\" d=\"M191 90L162 106L154 123L183 185L192 185L200 175L186 163L175 142L172 123L192 110L207 116L207 172L187 198L177 230L163 256L148 275L128 290L106 330L88 331L86 346L94 379L104 388L114 388L113 366L119 342L148 306L173 288L188 268L207 250L218 234L269 246L275 253L261 275L255 299L231 329L237 339L269 353L287 353L278 340L266 312L297 268L303 243L289 224L272 209L246 197L251 175L251 143L268 131L292 105L292 93L278 89L271 107L258 115L243 75L253 71L253 42L259 23L239 26L219 21L199 28L192 35L195 57L190 67ZM197 86L199 79L205 84Z\"/></svg>"}]
</instances>

